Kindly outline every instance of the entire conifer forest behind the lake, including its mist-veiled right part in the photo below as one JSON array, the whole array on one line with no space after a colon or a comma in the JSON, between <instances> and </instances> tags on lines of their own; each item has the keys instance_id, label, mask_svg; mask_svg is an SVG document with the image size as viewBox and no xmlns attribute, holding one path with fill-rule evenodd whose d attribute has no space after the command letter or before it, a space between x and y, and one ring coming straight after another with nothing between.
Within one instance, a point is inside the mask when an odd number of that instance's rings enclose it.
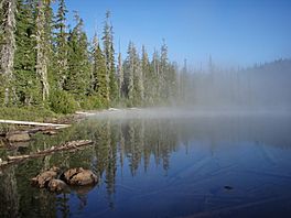
<instances>
[{"instance_id":1,"label":"entire conifer forest behind the lake, including its mist-veiled right part","mask_svg":"<svg viewBox=\"0 0 291 218\"><path fill-rule=\"evenodd\" d=\"M130 41L122 57L114 43L110 11L105 13L103 32L88 39L77 12L74 25L67 24L65 0L1 0L0 6L0 107L4 109L73 113L173 105L290 108L288 58L222 68L209 56L205 68L193 69L186 61L183 67L170 61L165 40L153 54Z\"/></svg>"}]
</instances>

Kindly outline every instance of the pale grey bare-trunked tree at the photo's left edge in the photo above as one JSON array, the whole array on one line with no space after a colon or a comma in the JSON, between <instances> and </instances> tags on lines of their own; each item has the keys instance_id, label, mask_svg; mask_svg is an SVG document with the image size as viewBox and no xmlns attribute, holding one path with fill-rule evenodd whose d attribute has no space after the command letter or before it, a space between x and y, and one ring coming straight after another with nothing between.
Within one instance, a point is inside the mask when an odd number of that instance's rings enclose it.
<instances>
[{"instance_id":1,"label":"pale grey bare-trunked tree at the photo's left edge","mask_svg":"<svg viewBox=\"0 0 291 218\"><path fill-rule=\"evenodd\" d=\"M2 0L1 3L1 44L0 44L0 75L3 79L4 100L9 103L11 80L13 78L14 51L15 51L15 9L14 0Z\"/></svg>"}]
</instances>

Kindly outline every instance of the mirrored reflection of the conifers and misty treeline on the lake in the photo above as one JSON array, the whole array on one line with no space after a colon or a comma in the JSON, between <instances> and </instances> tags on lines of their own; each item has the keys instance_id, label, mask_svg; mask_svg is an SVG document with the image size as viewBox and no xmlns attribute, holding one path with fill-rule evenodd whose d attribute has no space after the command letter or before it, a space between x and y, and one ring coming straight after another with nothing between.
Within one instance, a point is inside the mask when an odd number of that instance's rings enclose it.
<instances>
[{"instance_id":1,"label":"mirrored reflection of the conifers and misty treeline on the lake","mask_svg":"<svg viewBox=\"0 0 291 218\"><path fill-rule=\"evenodd\" d=\"M266 124L271 123L271 124ZM171 156L179 149L186 151L193 142L209 148L215 155L225 142L259 142L290 149L290 119L276 118L196 118L174 119L88 119L63 130L55 137L37 134L26 152L48 149L69 140L89 139L94 146L74 153L61 152L43 159L30 160L7 168L0 175L0 217L37 217L60 215L68 217L71 198L79 200L79 210L87 207L88 193L94 187L73 189L71 195L56 195L30 186L30 178L42 170L58 166L93 170L99 177L96 188L105 188L109 207L115 207L116 183L119 175L137 176L159 165L166 174ZM33 205L33 209L31 209ZM11 217L10 216L10 217Z\"/></svg>"}]
</instances>

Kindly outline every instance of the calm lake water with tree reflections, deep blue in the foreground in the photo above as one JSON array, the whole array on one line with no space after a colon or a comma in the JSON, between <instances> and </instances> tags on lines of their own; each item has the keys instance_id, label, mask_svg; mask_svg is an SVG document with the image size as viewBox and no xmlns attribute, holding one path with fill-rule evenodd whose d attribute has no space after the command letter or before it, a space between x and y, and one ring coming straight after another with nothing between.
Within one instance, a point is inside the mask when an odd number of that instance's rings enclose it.
<instances>
[{"instance_id":1,"label":"calm lake water with tree reflections, deep blue in the foreground","mask_svg":"<svg viewBox=\"0 0 291 218\"><path fill-rule=\"evenodd\" d=\"M291 217L291 117L277 113L99 113L15 151L95 144L0 171L0 217ZM53 165L100 181L66 194L30 178Z\"/></svg>"}]
</instances>

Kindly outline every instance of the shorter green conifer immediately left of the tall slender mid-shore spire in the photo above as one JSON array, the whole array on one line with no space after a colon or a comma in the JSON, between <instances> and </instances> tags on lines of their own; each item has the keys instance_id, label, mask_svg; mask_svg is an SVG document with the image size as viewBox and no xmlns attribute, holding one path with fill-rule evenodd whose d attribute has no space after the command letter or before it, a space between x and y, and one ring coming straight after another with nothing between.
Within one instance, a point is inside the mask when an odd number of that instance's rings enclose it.
<instances>
[{"instance_id":1,"label":"shorter green conifer immediately left of the tall slender mid-shore spire","mask_svg":"<svg viewBox=\"0 0 291 218\"><path fill-rule=\"evenodd\" d=\"M93 40L93 79L91 89L103 102L108 105L109 101L109 86L108 75L106 74L106 61L100 48L97 35L95 34Z\"/></svg>"}]
</instances>

